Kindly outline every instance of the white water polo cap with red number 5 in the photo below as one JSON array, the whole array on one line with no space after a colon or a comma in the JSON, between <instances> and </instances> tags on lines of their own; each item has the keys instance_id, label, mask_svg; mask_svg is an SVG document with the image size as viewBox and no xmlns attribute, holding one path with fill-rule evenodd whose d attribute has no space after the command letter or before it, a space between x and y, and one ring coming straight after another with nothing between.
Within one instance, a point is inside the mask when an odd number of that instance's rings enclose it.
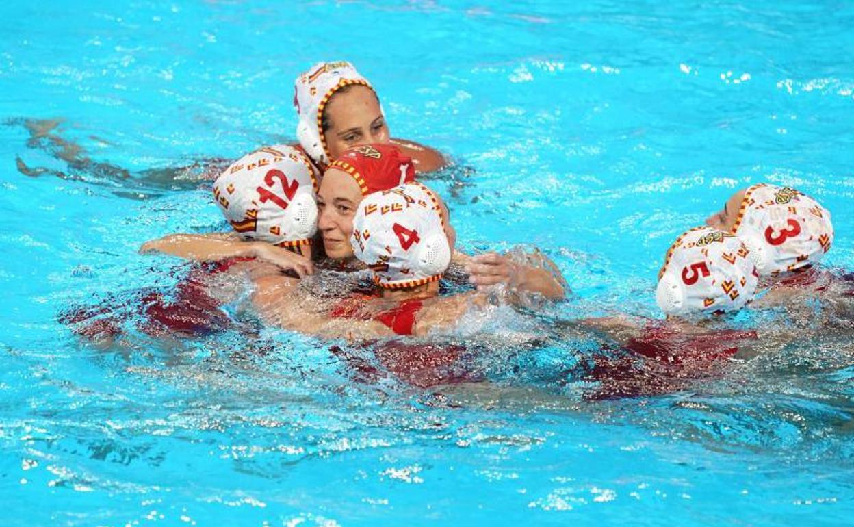
<instances>
[{"instance_id":1,"label":"white water polo cap with red number 5","mask_svg":"<svg viewBox=\"0 0 854 527\"><path fill-rule=\"evenodd\" d=\"M752 301L759 275L734 234L696 227L670 246L655 301L667 314L735 311Z\"/></svg>"}]
</instances>

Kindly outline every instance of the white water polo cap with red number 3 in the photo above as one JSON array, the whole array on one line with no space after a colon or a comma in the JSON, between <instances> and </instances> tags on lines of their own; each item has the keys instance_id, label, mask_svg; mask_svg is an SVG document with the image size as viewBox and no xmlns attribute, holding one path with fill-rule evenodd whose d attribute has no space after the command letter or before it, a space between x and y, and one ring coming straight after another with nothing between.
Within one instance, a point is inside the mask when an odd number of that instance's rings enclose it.
<instances>
[{"instance_id":1,"label":"white water polo cap with red number 3","mask_svg":"<svg viewBox=\"0 0 854 527\"><path fill-rule=\"evenodd\" d=\"M733 232L751 249L761 275L810 266L834 243L826 208L798 190L773 184L746 190Z\"/></svg>"}]
</instances>

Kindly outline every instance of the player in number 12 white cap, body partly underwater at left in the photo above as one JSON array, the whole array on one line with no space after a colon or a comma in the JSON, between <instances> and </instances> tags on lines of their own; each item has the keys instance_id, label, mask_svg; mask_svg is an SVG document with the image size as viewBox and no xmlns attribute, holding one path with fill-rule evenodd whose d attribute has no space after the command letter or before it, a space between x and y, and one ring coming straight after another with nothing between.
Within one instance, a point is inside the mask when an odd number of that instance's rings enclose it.
<instances>
[{"instance_id":1,"label":"player in number 12 white cap, body partly underwater at left","mask_svg":"<svg viewBox=\"0 0 854 527\"><path fill-rule=\"evenodd\" d=\"M244 278L279 274L281 255L310 255L317 229L318 174L300 151L262 149L242 161L217 179L213 197L236 235L247 240L238 245L243 252L182 272L169 290L148 288L96 307L73 307L61 321L106 344L128 324L159 339L200 337L233 326L220 307L237 300ZM294 270L307 271L298 262Z\"/></svg>"}]
</instances>

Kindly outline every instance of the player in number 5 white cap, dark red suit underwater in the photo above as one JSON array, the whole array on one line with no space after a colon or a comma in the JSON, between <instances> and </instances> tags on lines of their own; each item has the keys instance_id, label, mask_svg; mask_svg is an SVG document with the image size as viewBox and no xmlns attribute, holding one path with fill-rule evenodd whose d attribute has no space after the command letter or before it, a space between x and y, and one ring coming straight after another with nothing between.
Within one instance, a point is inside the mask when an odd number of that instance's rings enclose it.
<instances>
[{"instance_id":1,"label":"player in number 5 white cap, dark red suit underwater","mask_svg":"<svg viewBox=\"0 0 854 527\"><path fill-rule=\"evenodd\" d=\"M752 302L758 281L745 243L730 232L696 227L676 238L658 272L656 302L665 320L614 316L583 319L573 328L606 336L602 354L592 358L587 378L600 385L592 395L608 398L653 395L683 389L699 378L722 373L728 360L752 354L757 330L727 327L717 314ZM768 331L764 343L770 343Z\"/></svg>"}]
</instances>

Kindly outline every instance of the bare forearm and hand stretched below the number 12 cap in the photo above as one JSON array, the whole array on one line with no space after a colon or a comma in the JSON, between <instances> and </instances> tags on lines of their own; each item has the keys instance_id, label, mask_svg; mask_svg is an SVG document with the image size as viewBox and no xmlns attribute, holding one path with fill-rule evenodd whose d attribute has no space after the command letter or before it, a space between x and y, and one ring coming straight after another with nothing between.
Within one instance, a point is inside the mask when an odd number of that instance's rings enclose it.
<instances>
[{"instance_id":1,"label":"bare forearm and hand stretched below the number 12 cap","mask_svg":"<svg viewBox=\"0 0 854 527\"><path fill-rule=\"evenodd\" d=\"M170 234L143 243L140 254L160 252L192 261L223 261L230 258L256 258L275 264L299 276L312 274L312 261L289 250L265 242L244 242L231 232L210 234Z\"/></svg>"}]
</instances>

